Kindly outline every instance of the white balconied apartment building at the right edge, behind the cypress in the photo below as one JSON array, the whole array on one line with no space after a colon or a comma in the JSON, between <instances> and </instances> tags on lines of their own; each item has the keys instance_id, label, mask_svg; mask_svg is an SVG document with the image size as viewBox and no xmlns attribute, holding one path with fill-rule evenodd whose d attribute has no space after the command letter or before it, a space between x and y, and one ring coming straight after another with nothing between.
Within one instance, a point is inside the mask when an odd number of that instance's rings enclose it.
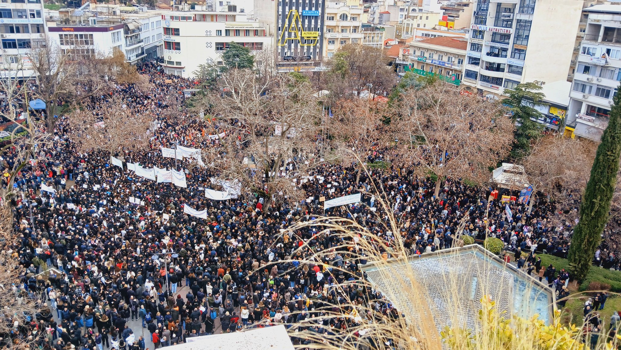
<instances>
[{"instance_id":1,"label":"white balconied apartment building at the right edge, behind the cypress","mask_svg":"<svg viewBox=\"0 0 621 350\"><path fill-rule=\"evenodd\" d=\"M586 14L569 93L566 127L574 135L599 141L621 81L621 5L596 5Z\"/></svg>"}]
</instances>

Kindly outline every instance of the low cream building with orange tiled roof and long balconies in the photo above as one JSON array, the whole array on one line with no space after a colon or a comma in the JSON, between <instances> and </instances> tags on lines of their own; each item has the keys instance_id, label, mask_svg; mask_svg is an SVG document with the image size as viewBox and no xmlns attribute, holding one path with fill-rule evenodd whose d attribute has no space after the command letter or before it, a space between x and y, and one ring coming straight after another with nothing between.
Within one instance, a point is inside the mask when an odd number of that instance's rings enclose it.
<instances>
[{"instance_id":1,"label":"low cream building with orange tiled roof and long balconies","mask_svg":"<svg viewBox=\"0 0 621 350\"><path fill-rule=\"evenodd\" d=\"M411 41L401 49L397 71L411 71L421 76L437 76L447 83L460 85L466 60L468 39L435 37Z\"/></svg>"}]
</instances>

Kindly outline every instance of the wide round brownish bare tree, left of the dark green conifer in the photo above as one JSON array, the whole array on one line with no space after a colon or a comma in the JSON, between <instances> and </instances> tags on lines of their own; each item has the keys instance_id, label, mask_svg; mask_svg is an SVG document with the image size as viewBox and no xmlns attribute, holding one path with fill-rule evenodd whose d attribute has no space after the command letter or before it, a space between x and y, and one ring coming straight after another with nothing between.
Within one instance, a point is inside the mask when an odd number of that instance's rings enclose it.
<instances>
[{"instance_id":1,"label":"wide round brownish bare tree, left of the dark green conifer","mask_svg":"<svg viewBox=\"0 0 621 350\"><path fill-rule=\"evenodd\" d=\"M395 108L385 136L396 144L396 161L437 176L435 195L445 177L486 182L489 167L510 150L514 125L502 104L461 94L456 86L435 81L407 90Z\"/></svg>"}]
</instances>

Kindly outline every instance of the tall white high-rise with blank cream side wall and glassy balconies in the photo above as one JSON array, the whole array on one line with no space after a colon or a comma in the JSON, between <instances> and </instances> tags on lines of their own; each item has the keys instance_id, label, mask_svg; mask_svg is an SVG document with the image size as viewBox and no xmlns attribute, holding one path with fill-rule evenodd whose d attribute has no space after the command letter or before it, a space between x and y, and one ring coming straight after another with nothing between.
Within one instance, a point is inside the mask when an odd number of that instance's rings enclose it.
<instances>
[{"instance_id":1,"label":"tall white high-rise with blank cream side wall and glassy balconies","mask_svg":"<svg viewBox=\"0 0 621 350\"><path fill-rule=\"evenodd\" d=\"M575 0L476 0L463 85L501 96L520 83L566 80L581 11Z\"/></svg>"}]
</instances>

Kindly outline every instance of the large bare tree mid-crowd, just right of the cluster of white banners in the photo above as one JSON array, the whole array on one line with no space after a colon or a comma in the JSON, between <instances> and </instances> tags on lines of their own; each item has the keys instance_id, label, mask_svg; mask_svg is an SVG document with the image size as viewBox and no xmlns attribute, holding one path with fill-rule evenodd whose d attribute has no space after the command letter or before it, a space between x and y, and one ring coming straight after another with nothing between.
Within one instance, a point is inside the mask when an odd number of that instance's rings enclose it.
<instances>
[{"instance_id":1,"label":"large bare tree mid-crowd, just right of the cluster of white banners","mask_svg":"<svg viewBox=\"0 0 621 350\"><path fill-rule=\"evenodd\" d=\"M196 107L217 117L217 131L226 131L217 147L203 150L205 163L268 202L303 198L293 179L299 183L321 162L314 143L320 108L311 86L290 75L259 80L253 71L233 70L220 78L217 90Z\"/></svg>"}]
</instances>

